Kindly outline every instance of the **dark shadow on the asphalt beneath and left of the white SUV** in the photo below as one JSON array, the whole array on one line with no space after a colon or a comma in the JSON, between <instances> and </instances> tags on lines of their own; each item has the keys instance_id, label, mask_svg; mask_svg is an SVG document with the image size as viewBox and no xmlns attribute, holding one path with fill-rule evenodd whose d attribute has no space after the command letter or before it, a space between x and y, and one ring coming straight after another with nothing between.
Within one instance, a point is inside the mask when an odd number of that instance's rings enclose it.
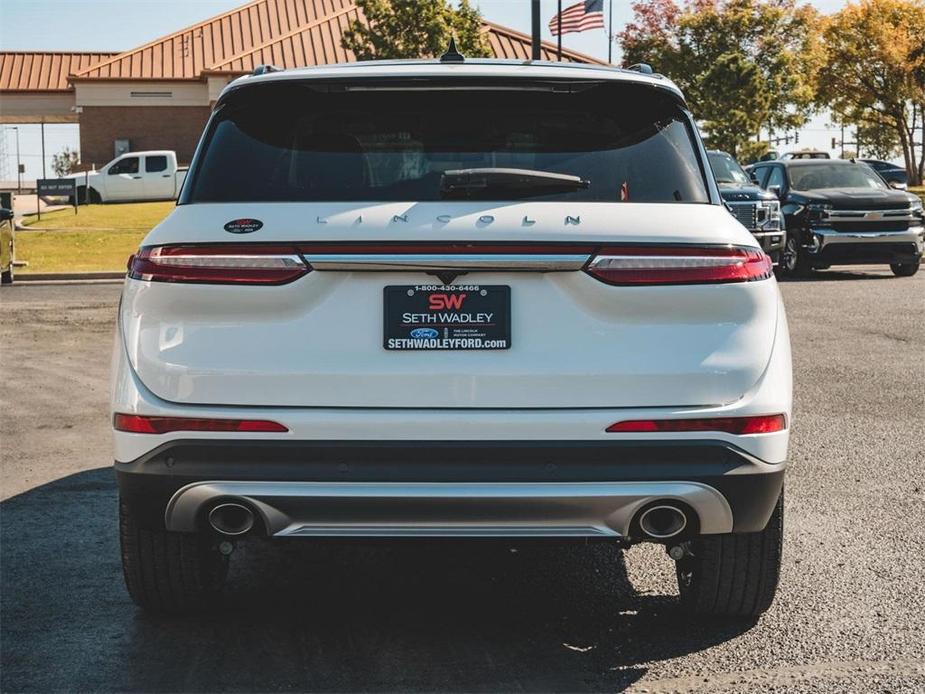
<instances>
[{"instance_id":1,"label":"dark shadow on the asphalt beneath and left of the white SUV","mask_svg":"<svg viewBox=\"0 0 925 694\"><path fill-rule=\"evenodd\" d=\"M223 609L138 611L109 468L0 504L3 691L592 691L748 625L689 625L606 543L242 543ZM667 561L667 560L666 560Z\"/></svg>"}]
</instances>

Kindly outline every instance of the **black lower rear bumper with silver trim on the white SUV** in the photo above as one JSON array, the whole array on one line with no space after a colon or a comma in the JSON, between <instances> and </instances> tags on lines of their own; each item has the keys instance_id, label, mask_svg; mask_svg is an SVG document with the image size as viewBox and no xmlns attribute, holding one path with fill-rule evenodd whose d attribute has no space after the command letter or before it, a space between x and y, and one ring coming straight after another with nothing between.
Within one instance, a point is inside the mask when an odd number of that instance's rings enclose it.
<instances>
[{"instance_id":1,"label":"black lower rear bumper with silver trim on the white SUV","mask_svg":"<svg viewBox=\"0 0 925 694\"><path fill-rule=\"evenodd\" d=\"M632 537L660 500L702 534L760 530L784 471L718 441L188 440L116 474L144 525L183 532L235 499L274 537Z\"/></svg>"}]
</instances>

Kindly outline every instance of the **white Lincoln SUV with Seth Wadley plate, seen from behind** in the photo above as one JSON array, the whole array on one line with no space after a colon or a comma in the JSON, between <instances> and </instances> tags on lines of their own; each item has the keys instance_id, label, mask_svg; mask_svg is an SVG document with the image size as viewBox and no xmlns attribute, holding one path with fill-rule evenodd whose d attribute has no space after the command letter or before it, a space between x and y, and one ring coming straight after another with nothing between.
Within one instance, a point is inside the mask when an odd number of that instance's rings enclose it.
<instances>
[{"instance_id":1,"label":"white Lincoln SUV with Seth Wadley plate, seen from behind","mask_svg":"<svg viewBox=\"0 0 925 694\"><path fill-rule=\"evenodd\" d=\"M225 89L119 309L139 605L205 604L253 535L655 542L690 613L768 608L787 322L649 73L434 60Z\"/></svg>"}]
</instances>

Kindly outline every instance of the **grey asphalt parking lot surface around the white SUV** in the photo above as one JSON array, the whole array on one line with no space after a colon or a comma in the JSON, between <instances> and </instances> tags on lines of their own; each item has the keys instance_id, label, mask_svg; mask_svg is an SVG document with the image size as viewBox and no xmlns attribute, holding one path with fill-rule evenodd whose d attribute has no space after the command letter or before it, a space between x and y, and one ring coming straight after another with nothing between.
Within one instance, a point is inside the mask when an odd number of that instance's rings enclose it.
<instances>
[{"instance_id":1,"label":"grey asphalt parking lot surface around the white SUV","mask_svg":"<svg viewBox=\"0 0 925 694\"><path fill-rule=\"evenodd\" d=\"M0 690L925 690L925 272L782 285L785 565L756 624L680 619L651 546L245 543L220 612L122 585L107 377L119 285L0 295Z\"/></svg>"}]
</instances>

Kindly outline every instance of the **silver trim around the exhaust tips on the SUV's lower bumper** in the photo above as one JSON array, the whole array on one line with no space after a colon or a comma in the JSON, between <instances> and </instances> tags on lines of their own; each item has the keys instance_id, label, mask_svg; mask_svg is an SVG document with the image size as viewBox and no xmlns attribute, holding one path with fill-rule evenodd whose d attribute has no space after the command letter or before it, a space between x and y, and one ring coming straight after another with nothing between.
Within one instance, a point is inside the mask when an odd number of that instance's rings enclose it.
<instances>
[{"instance_id":1,"label":"silver trim around the exhaust tips on the SUV's lower bumper","mask_svg":"<svg viewBox=\"0 0 925 694\"><path fill-rule=\"evenodd\" d=\"M196 482L164 513L169 530L195 532L216 501L248 503L273 537L626 537L637 511L683 501L700 532L732 532L725 497L696 482Z\"/></svg>"}]
</instances>

